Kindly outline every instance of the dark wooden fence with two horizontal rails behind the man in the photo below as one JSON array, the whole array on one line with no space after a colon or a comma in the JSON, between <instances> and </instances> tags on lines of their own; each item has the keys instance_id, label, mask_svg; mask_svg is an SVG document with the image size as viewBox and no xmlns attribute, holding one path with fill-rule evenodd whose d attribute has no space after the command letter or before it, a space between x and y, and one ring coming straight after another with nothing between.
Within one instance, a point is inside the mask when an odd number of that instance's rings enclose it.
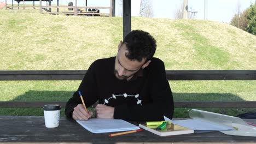
<instances>
[{"instance_id":1,"label":"dark wooden fence with two horizontal rails behind the man","mask_svg":"<svg viewBox=\"0 0 256 144\"><path fill-rule=\"evenodd\" d=\"M2 70L0 81L82 80L86 70ZM168 81L256 80L256 70L166 70ZM51 101L0 101L0 107L42 107ZM65 107L66 101L54 101ZM256 101L177 101L175 107L256 107Z\"/></svg>"}]
</instances>

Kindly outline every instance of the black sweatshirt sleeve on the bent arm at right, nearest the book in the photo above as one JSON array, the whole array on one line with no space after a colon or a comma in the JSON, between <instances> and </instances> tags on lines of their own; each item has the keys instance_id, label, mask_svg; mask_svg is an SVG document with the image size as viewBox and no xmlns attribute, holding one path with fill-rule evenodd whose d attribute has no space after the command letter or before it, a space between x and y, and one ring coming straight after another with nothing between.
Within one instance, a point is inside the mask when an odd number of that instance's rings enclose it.
<instances>
[{"instance_id":1,"label":"black sweatshirt sleeve on the bent arm at right, nearest the book","mask_svg":"<svg viewBox=\"0 0 256 144\"><path fill-rule=\"evenodd\" d=\"M166 80L164 62L160 61L155 64L152 71L149 72L148 78L150 79L147 83L149 87L146 91L149 91L149 95L144 96L150 97L152 102L142 106L126 104L115 106L114 118L126 121L161 121L164 116L172 118L173 97L170 85Z\"/></svg>"}]
</instances>

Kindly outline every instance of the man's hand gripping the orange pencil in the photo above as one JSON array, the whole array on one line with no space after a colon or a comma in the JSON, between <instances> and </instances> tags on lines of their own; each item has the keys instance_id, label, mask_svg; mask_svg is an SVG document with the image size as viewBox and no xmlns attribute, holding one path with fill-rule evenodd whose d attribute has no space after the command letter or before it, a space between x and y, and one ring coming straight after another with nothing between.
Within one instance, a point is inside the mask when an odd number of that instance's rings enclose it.
<instances>
[{"instance_id":1,"label":"man's hand gripping the orange pencil","mask_svg":"<svg viewBox=\"0 0 256 144\"><path fill-rule=\"evenodd\" d=\"M88 110L85 111L83 104L78 104L74 107L74 111L72 113L72 117L75 120L86 121L91 118L92 112Z\"/></svg>"}]
</instances>

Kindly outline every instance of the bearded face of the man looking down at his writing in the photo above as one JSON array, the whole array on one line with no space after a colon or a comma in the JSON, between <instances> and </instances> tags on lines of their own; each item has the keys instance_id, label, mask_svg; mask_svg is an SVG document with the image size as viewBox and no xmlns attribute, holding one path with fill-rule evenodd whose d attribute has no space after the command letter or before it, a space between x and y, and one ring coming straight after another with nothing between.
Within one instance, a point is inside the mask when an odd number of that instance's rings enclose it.
<instances>
[{"instance_id":1,"label":"bearded face of the man looking down at his writing","mask_svg":"<svg viewBox=\"0 0 256 144\"><path fill-rule=\"evenodd\" d=\"M125 53L128 53L126 49L126 44L119 44L119 51L117 56L115 57L115 77L119 80L127 80L129 81L132 76L139 71L141 68L145 68L145 59L141 62L131 61L125 56ZM147 67L147 65L146 65Z\"/></svg>"}]
</instances>

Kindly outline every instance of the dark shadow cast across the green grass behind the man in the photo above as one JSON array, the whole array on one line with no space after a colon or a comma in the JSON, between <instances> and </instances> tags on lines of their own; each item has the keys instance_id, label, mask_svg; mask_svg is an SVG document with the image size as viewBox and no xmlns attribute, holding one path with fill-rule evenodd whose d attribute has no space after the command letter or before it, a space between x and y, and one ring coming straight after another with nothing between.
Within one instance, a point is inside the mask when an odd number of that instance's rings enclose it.
<instances>
[{"instance_id":1,"label":"dark shadow cast across the green grass behind the man","mask_svg":"<svg viewBox=\"0 0 256 144\"><path fill-rule=\"evenodd\" d=\"M28 91L19 95L11 101L67 101L72 97L74 91ZM244 101L237 95L231 93L173 93L174 101ZM225 115L238 115L255 109L231 109L231 108L176 108L174 117L187 118L190 109L200 109L211 112L222 113ZM61 116L64 114L65 108L61 109ZM15 116L43 116L42 108L0 108L0 115Z\"/></svg>"}]
</instances>

